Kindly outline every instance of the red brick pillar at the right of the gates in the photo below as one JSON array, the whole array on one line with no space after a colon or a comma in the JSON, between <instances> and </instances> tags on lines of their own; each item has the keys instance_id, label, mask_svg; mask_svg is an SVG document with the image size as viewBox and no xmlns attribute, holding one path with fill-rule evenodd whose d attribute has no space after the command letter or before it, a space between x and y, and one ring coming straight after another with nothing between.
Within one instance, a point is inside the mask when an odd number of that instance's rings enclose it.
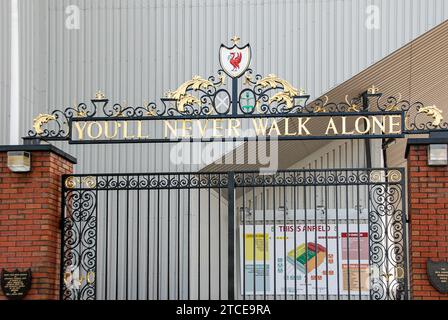
<instances>
[{"instance_id":1,"label":"red brick pillar at the right of the gates","mask_svg":"<svg viewBox=\"0 0 448 320\"><path fill-rule=\"evenodd\" d=\"M409 140L406 152L411 298L448 300L448 294L439 293L430 284L426 271L428 259L448 261L448 167L428 166L427 148L431 141Z\"/></svg>"}]
</instances>

